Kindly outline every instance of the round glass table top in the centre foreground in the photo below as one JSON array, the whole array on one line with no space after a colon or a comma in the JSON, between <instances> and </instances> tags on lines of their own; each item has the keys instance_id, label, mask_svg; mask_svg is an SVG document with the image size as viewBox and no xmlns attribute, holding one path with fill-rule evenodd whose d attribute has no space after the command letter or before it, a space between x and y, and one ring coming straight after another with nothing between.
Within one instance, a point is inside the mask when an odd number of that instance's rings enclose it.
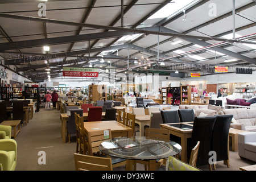
<instances>
[{"instance_id":1,"label":"round glass table top in the centre foreground","mask_svg":"<svg viewBox=\"0 0 256 182\"><path fill-rule=\"evenodd\" d=\"M171 140L146 137L120 137L105 140L101 152L115 158L129 160L156 160L179 154L181 146Z\"/></svg>"}]
</instances>

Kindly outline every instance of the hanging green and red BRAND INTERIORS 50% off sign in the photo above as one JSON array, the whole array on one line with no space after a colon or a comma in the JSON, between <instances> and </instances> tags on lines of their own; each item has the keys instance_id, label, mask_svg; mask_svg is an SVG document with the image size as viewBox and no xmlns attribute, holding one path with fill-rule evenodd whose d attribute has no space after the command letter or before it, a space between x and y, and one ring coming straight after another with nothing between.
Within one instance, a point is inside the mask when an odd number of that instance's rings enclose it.
<instances>
[{"instance_id":1,"label":"hanging green and red BRAND INTERIORS 50% off sign","mask_svg":"<svg viewBox=\"0 0 256 182\"><path fill-rule=\"evenodd\" d=\"M98 68L63 68L63 76L98 77Z\"/></svg>"}]
</instances>

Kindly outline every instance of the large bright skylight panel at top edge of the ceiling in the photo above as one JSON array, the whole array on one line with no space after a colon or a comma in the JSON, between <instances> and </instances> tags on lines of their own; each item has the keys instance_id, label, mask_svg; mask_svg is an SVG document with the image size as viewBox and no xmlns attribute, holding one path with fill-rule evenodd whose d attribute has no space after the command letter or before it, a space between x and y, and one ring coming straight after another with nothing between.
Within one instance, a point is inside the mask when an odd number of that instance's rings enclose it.
<instances>
[{"instance_id":1,"label":"large bright skylight panel at top edge of the ceiling","mask_svg":"<svg viewBox=\"0 0 256 182\"><path fill-rule=\"evenodd\" d=\"M182 11L186 6L189 6L189 3L192 3L193 1L195 0L176 0L175 2L170 2L155 14L150 16L148 19L166 18L176 13L176 11Z\"/></svg>"}]
</instances>

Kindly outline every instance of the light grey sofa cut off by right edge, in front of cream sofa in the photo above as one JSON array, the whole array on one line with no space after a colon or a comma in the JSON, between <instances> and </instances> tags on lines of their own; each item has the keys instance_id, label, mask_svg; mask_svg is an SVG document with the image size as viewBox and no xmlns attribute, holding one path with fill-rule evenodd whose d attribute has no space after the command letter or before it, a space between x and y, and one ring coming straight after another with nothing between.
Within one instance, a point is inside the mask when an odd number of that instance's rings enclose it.
<instances>
[{"instance_id":1,"label":"light grey sofa cut off by right edge, in front of cream sofa","mask_svg":"<svg viewBox=\"0 0 256 182\"><path fill-rule=\"evenodd\" d=\"M238 134L238 155L256 162L256 132Z\"/></svg>"}]
</instances>

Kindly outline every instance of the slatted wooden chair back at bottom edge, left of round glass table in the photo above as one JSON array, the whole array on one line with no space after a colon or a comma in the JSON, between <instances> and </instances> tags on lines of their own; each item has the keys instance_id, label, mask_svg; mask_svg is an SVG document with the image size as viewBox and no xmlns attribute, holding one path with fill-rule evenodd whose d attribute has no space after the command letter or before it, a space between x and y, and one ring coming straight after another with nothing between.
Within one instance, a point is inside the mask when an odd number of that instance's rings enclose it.
<instances>
[{"instance_id":1,"label":"slatted wooden chair back at bottom edge, left of round glass table","mask_svg":"<svg viewBox=\"0 0 256 182\"><path fill-rule=\"evenodd\" d=\"M76 171L113 171L112 159L74 154Z\"/></svg>"}]
</instances>

